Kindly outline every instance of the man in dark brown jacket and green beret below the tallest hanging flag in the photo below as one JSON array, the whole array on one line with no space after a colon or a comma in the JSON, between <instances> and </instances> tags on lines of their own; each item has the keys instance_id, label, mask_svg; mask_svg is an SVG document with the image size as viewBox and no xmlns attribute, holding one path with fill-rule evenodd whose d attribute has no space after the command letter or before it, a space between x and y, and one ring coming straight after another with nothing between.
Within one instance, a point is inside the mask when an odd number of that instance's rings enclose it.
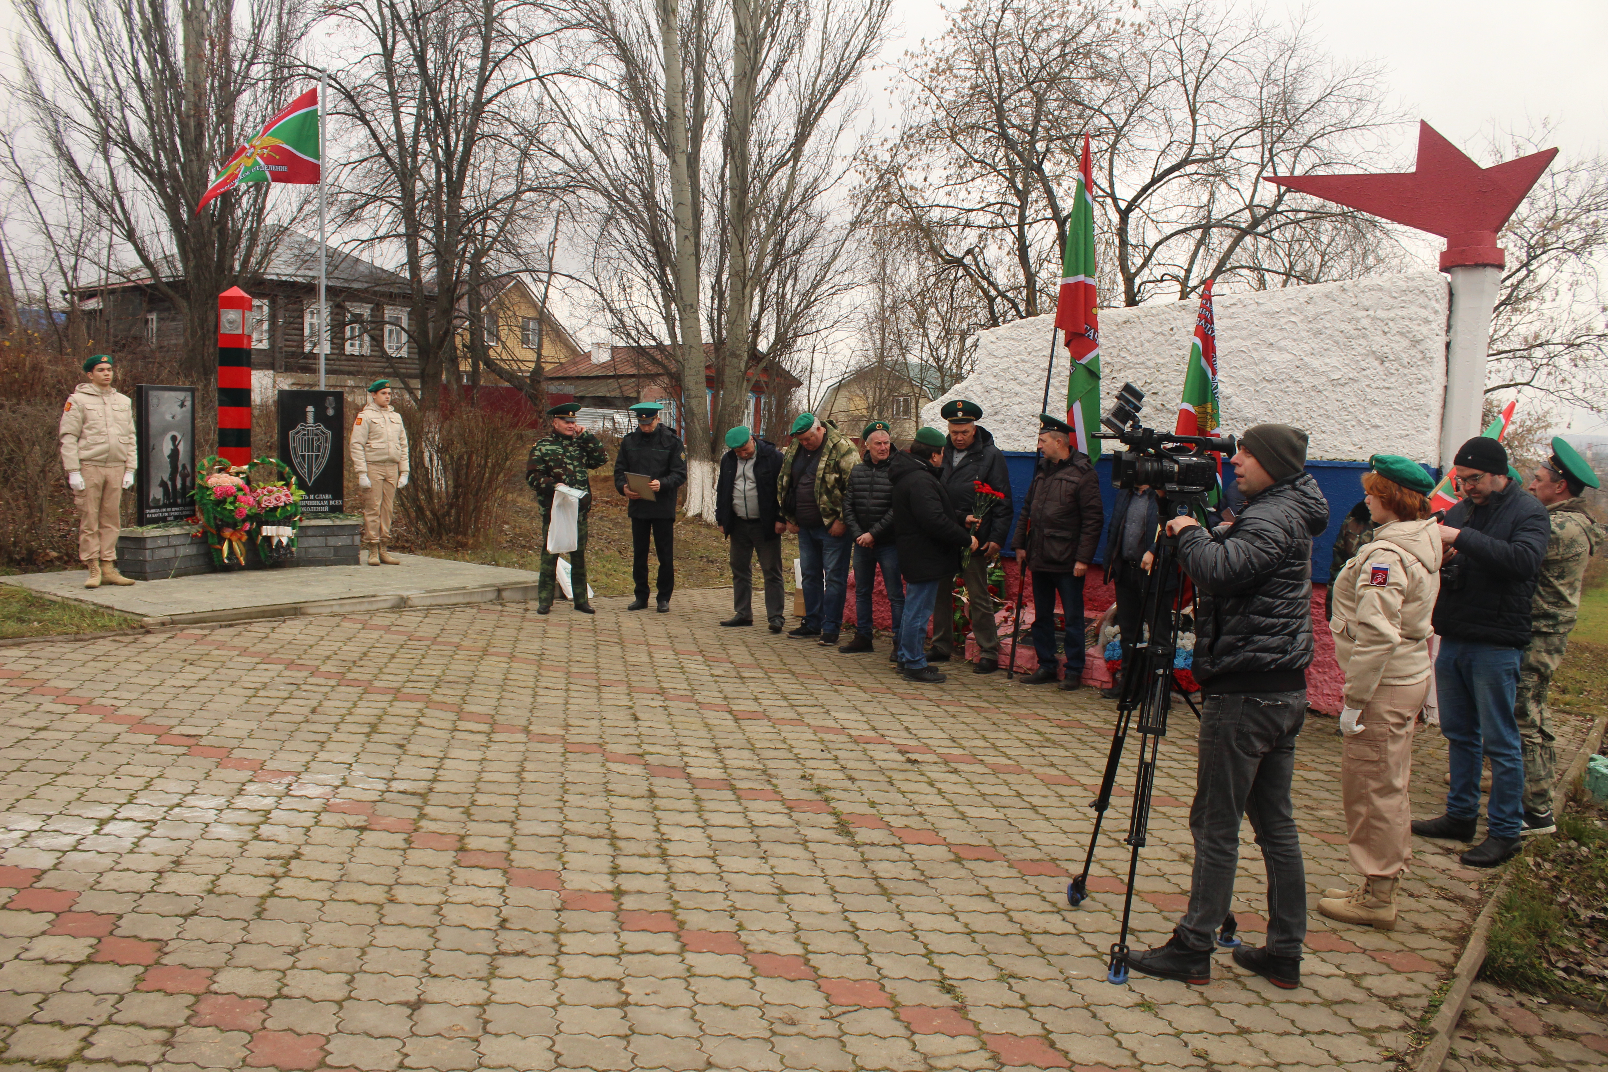
<instances>
[{"instance_id":1,"label":"man in dark brown jacket and green beret below the tallest hanging flag","mask_svg":"<svg viewBox=\"0 0 1608 1072\"><path fill-rule=\"evenodd\" d=\"M1055 596L1061 596L1066 616L1063 646L1066 648L1066 680L1061 688L1082 686L1084 677L1084 575L1100 546L1105 508L1100 505L1100 477L1089 464L1089 455L1073 445L1073 429L1066 421L1039 415L1039 461L1028 498L1016 524L1016 564L1032 571L1032 648L1039 669L1023 678L1024 685L1044 685L1056 678L1055 665ZM1026 575L1026 574L1023 574Z\"/></svg>"}]
</instances>

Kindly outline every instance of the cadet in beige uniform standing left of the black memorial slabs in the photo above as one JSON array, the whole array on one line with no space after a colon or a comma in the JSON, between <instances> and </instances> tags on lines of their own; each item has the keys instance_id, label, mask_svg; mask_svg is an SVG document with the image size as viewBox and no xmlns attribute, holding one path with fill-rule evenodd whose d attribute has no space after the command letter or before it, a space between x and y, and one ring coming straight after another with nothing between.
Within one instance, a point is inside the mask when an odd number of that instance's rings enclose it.
<instances>
[{"instance_id":1,"label":"cadet in beige uniform standing left of the black memorial slabs","mask_svg":"<svg viewBox=\"0 0 1608 1072\"><path fill-rule=\"evenodd\" d=\"M79 508L79 558L90 571L84 587L132 585L117 572L117 535L122 492L133 487L133 403L111 386L109 355L90 357L84 371L90 381L68 399L56 429L61 468Z\"/></svg>"}]
</instances>

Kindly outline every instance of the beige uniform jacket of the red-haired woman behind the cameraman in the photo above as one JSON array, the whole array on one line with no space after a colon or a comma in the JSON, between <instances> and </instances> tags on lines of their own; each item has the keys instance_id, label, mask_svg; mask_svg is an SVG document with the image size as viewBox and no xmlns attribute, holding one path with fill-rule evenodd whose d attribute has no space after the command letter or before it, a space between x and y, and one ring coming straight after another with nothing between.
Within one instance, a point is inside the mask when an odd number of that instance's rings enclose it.
<instances>
[{"instance_id":1,"label":"beige uniform jacket of the red-haired woman behind the cameraman","mask_svg":"<svg viewBox=\"0 0 1608 1072\"><path fill-rule=\"evenodd\" d=\"M1346 707L1362 709L1380 685L1430 677L1430 617L1441 593L1441 537L1434 521L1391 521L1333 580L1335 661L1346 675Z\"/></svg>"}]
</instances>

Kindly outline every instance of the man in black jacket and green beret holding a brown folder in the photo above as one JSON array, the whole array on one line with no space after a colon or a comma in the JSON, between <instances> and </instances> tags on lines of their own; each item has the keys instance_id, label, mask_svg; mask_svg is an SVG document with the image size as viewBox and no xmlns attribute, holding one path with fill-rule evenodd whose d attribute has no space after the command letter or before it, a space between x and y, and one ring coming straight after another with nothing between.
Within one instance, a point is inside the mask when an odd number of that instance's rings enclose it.
<instances>
[{"instance_id":1,"label":"man in black jacket and green beret holding a brown folder","mask_svg":"<svg viewBox=\"0 0 1608 1072\"><path fill-rule=\"evenodd\" d=\"M659 423L658 402L638 402L630 407L637 415L637 431L619 440L614 455L614 489L630 500L626 514L630 518L630 575L637 582L637 599L627 611L648 606L648 538L659 554L659 614L671 609L671 593L675 590L675 489L687 482L687 448L680 437ZM653 477L648 489L653 498L643 498L627 482L627 473Z\"/></svg>"}]
</instances>

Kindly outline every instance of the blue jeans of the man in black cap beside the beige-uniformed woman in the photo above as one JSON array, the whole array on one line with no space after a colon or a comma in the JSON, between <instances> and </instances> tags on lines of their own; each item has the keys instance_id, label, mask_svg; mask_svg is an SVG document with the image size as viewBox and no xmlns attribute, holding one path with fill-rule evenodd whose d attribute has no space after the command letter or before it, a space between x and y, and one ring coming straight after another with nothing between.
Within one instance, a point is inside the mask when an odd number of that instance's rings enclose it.
<instances>
[{"instance_id":1,"label":"blue jeans of the man in black cap beside the beige-uniformed woman","mask_svg":"<svg viewBox=\"0 0 1608 1072\"><path fill-rule=\"evenodd\" d=\"M1441 702L1441 734L1452 768L1446 813L1479 818L1481 754L1491 757L1487 833L1518 837L1524 823L1524 751L1513 718L1518 691L1518 648L1441 638L1434 688Z\"/></svg>"}]
</instances>

